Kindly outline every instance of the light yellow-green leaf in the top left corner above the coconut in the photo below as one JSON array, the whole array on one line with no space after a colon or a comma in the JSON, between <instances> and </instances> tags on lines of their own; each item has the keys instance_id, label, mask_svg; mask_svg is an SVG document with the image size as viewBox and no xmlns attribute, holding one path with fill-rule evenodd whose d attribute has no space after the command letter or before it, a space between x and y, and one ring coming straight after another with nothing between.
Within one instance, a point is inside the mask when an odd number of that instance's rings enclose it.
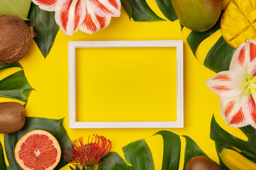
<instances>
[{"instance_id":1,"label":"light yellow-green leaf in the top left corner above the coconut","mask_svg":"<svg viewBox=\"0 0 256 170\"><path fill-rule=\"evenodd\" d=\"M1 0L0 1L0 15L16 15L22 20L28 20L31 0Z\"/></svg>"}]
</instances>

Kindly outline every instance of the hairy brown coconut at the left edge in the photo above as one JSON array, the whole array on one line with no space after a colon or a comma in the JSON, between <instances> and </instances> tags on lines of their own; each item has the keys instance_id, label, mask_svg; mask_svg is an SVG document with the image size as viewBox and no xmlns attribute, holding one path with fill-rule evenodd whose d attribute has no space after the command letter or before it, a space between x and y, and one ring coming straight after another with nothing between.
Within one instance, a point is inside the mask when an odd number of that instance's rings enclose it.
<instances>
[{"instance_id":1,"label":"hairy brown coconut at the left edge","mask_svg":"<svg viewBox=\"0 0 256 170\"><path fill-rule=\"evenodd\" d=\"M32 44L34 30L21 18L0 15L0 63L18 62Z\"/></svg>"}]
</instances>

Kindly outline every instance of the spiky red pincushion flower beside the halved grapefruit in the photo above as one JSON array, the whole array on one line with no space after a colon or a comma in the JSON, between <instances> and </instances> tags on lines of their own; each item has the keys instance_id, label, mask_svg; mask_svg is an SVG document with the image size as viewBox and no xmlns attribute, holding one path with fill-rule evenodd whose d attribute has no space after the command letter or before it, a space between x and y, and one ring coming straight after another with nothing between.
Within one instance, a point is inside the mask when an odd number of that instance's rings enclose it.
<instances>
[{"instance_id":1,"label":"spiky red pincushion flower beside the halved grapefruit","mask_svg":"<svg viewBox=\"0 0 256 170\"><path fill-rule=\"evenodd\" d=\"M70 156L64 152L64 159L73 165L81 166L83 170L92 170L94 165L99 164L100 159L111 150L111 141L103 136L94 135L88 144L83 144L83 137L72 141L72 150L68 147Z\"/></svg>"}]
</instances>

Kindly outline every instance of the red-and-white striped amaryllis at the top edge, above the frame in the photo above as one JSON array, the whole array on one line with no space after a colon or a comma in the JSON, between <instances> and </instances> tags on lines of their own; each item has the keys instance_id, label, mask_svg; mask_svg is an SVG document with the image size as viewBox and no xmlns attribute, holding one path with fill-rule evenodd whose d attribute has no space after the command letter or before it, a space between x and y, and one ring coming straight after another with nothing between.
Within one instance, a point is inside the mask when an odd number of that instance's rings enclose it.
<instances>
[{"instance_id":1,"label":"red-and-white striped amaryllis at the top edge, above the frame","mask_svg":"<svg viewBox=\"0 0 256 170\"><path fill-rule=\"evenodd\" d=\"M78 29L94 33L119 17L121 0L32 0L45 11L55 11L55 21L66 35Z\"/></svg>"}]
</instances>

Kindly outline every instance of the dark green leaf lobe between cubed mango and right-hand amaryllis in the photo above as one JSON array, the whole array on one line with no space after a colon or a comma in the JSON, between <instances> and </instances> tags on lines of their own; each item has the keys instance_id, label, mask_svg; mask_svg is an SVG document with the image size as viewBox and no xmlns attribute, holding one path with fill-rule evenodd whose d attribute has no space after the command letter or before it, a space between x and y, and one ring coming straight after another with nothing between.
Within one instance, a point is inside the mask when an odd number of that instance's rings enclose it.
<instances>
[{"instance_id":1,"label":"dark green leaf lobe between cubed mango and right-hand amaryllis","mask_svg":"<svg viewBox=\"0 0 256 170\"><path fill-rule=\"evenodd\" d=\"M221 36L211 47L204 59L204 66L218 73L229 70L229 65L236 49L233 49Z\"/></svg>"}]
</instances>

